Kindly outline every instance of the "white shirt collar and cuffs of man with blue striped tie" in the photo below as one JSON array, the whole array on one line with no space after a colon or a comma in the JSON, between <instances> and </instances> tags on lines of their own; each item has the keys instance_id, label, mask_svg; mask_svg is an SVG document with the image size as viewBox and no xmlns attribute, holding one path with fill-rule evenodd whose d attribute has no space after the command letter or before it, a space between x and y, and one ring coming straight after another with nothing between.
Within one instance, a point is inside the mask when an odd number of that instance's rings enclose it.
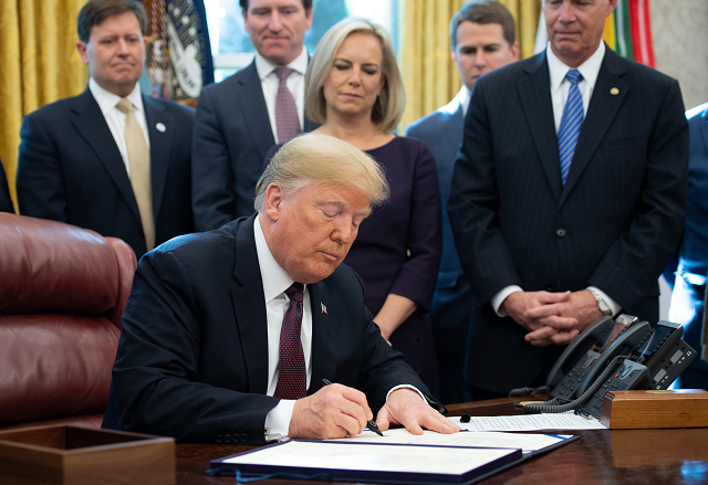
<instances>
[{"instance_id":1,"label":"white shirt collar and cuffs of man with blue striped tie","mask_svg":"<svg viewBox=\"0 0 708 485\"><path fill-rule=\"evenodd\" d=\"M555 122L555 133L561 127L561 119L563 117L563 109L565 108L565 102L568 101L568 92L570 91L571 82L565 77L568 72L572 68L563 63L558 56L553 53L551 49L551 44L549 43L545 48L545 56L549 63L549 75L551 81L551 102L553 103L553 119ZM597 81L597 75L600 74L600 67L602 66L602 60L605 56L605 43L600 42L597 50L590 56L587 60L577 66L577 71L580 71L583 78L577 83L577 89L583 98L583 116L587 116L587 106L590 106L590 98L593 95L593 89L595 88L595 83ZM571 170L572 170L571 162ZM610 306L612 309L612 314L616 315L621 307L617 303L607 296L602 289L595 286L589 286L587 289L592 289L597 293ZM518 285L510 285L503 287L499 293L491 297L489 303L491 307L494 309L497 315L500 317L506 317L507 312L501 308L501 304L507 298L507 296L511 295L516 292L523 292L523 288Z\"/></svg>"}]
</instances>

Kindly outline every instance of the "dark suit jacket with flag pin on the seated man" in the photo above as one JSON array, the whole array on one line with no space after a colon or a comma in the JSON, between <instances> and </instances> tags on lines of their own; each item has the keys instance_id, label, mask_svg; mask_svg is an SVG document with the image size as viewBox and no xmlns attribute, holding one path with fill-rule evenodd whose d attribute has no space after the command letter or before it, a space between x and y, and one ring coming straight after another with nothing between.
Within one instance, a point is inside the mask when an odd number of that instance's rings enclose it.
<instances>
[{"instance_id":1,"label":"dark suit jacket with flag pin on the seated man","mask_svg":"<svg viewBox=\"0 0 708 485\"><path fill-rule=\"evenodd\" d=\"M262 444L279 399L266 396L268 329L253 223L175 239L143 257L123 315L104 419L126 431L178 441ZM366 393L372 411L409 383L429 394L403 356L381 338L363 284L341 265L309 285L312 379ZM326 306L327 313L321 310Z\"/></svg>"}]
</instances>

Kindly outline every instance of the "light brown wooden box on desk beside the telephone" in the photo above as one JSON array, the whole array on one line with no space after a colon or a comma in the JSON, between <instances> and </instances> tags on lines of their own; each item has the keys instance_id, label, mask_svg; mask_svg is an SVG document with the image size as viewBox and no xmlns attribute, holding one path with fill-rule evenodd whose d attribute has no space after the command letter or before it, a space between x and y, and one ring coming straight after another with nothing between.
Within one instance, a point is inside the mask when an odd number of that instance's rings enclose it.
<instances>
[{"instance_id":1,"label":"light brown wooden box on desk beside the telephone","mask_svg":"<svg viewBox=\"0 0 708 485\"><path fill-rule=\"evenodd\" d=\"M611 430L707 428L708 392L611 391L603 399L600 421Z\"/></svg>"}]
</instances>

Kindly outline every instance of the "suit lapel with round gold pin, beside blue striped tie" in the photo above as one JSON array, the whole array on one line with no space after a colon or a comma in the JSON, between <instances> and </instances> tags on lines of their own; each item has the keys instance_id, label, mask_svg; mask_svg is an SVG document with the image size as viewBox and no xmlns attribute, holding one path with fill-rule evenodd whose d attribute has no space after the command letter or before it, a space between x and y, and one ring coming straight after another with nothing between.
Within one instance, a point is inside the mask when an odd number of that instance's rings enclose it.
<instances>
[{"instance_id":1,"label":"suit lapel with round gold pin, beside blue striped tie","mask_svg":"<svg viewBox=\"0 0 708 485\"><path fill-rule=\"evenodd\" d=\"M575 154L573 155L573 161L571 162L571 169L568 173L568 180L563 188L560 204L568 199L568 194L573 190L575 183L577 183L587 164L597 150L600 143L610 130L620 110L620 106L622 106L629 91L629 86L621 80L621 76L625 74L626 70L615 62L616 56L617 54L612 52L610 48L606 48L605 57L600 66L600 73L595 82L595 88L590 98L587 116L583 122L580 136L577 137L577 146L575 147Z\"/></svg>"}]
</instances>

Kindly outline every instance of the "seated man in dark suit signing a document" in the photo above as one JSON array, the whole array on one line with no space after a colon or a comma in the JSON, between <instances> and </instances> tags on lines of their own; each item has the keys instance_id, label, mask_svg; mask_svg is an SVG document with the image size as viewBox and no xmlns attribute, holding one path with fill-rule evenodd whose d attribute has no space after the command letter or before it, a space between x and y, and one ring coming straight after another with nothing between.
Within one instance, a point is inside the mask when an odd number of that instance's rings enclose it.
<instances>
[{"instance_id":1,"label":"seated man in dark suit signing a document","mask_svg":"<svg viewBox=\"0 0 708 485\"><path fill-rule=\"evenodd\" d=\"M257 214L140 260L104 428L242 444L355 435L374 414L382 430L458 430L381 336L358 275L340 265L387 198L378 165L304 135L256 191Z\"/></svg>"}]
</instances>

